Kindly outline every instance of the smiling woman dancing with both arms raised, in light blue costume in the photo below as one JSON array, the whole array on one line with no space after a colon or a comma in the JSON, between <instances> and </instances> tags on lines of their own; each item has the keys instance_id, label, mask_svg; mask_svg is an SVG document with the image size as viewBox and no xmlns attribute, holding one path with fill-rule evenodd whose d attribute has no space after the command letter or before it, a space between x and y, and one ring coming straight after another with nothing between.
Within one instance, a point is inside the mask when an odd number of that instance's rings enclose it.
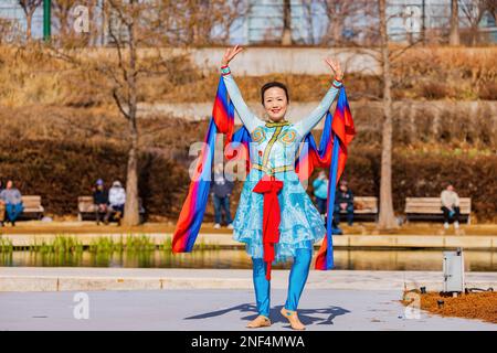
<instances>
[{"instance_id":1,"label":"smiling woman dancing with both arms raised, in light blue costume","mask_svg":"<svg viewBox=\"0 0 497 353\"><path fill-rule=\"evenodd\" d=\"M221 73L230 99L252 137L251 171L244 182L233 222L234 239L246 244L253 260L253 281L258 317L247 328L269 327L271 266L293 257L288 296L281 313L292 329L304 330L297 315L316 240L326 234L324 221L304 190L294 170L299 142L325 117L340 87L343 73L338 62L326 58L335 79L319 106L306 118L285 119L289 96L287 87L269 82L261 88L267 121L246 106L231 74L229 64L242 51L226 50Z\"/></svg>"}]
</instances>

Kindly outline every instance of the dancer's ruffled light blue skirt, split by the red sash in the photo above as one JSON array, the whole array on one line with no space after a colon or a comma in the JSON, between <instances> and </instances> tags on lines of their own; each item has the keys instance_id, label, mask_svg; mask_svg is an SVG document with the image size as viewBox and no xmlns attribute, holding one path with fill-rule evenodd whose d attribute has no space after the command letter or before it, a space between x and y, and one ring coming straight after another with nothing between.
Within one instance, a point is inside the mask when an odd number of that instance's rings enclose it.
<instances>
[{"instance_id":1,"label":"dancer's ruffled light blue skirt, split by the red sash","mask_svg":"<svg viewBox=\"0 0 497 353\"><path fill-rule=\"evenodd\" d=\"M263 257L263 203L264 196L252 190L264 172L252 169L243 185L239 207L233 221L233 238L245 243L246 253ZM275 174L283 181L278 193L281 208L279 242L275 246L275 261L295 257L296 249L313 249L314 243L326 234L325 223L307 195L294 171Z\"/></svg>"}]
</instances>

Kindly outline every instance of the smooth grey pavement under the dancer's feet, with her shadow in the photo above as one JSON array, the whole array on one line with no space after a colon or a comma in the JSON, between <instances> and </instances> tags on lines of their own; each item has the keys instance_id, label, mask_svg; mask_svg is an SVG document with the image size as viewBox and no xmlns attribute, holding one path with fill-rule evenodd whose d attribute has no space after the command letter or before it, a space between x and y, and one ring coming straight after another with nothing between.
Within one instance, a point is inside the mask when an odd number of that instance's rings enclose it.
<instances>
[{"instance_id":1,"label":"smooth grey pavement under the dancer's feet, with her shadow","mask_svg":"<svg viewBox=\"0 0 497 353\"><path fill-rule=\"evenodd\" d=\"M309 331L497 330L491 323L425 312L408 319L401 296L392 290L307 289L299 317ZM258 332L290 331L278 313L285 297L285 290L272 290L273 325ZM82 304L88 319L81 314ZM253 318L252 290L0 293L0 330L237 331Z\"/></svg>"}]
</instances>

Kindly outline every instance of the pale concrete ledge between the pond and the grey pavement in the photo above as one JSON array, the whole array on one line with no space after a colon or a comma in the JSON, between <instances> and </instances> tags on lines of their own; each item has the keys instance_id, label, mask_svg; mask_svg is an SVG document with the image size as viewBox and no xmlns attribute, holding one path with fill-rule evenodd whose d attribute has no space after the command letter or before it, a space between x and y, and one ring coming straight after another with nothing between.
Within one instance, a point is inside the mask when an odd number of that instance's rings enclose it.
<instances>
[{"instance_id":1,"label":"pale concrete ledge between the pond and the grey pavement","mask_svg":"<svg viewBox=\"0 0 497 353\"><path fill-rule=\"evenodd\" d=\"M272 286L287 286L289 270L275 269ZM467 287L497 288L497 272L466 272ZM442 290L441 271L311 270L308 289ZM71 290L252 289L252 270L186 268L0 267L0 292Z\"/></svg>"}]
</instances>

